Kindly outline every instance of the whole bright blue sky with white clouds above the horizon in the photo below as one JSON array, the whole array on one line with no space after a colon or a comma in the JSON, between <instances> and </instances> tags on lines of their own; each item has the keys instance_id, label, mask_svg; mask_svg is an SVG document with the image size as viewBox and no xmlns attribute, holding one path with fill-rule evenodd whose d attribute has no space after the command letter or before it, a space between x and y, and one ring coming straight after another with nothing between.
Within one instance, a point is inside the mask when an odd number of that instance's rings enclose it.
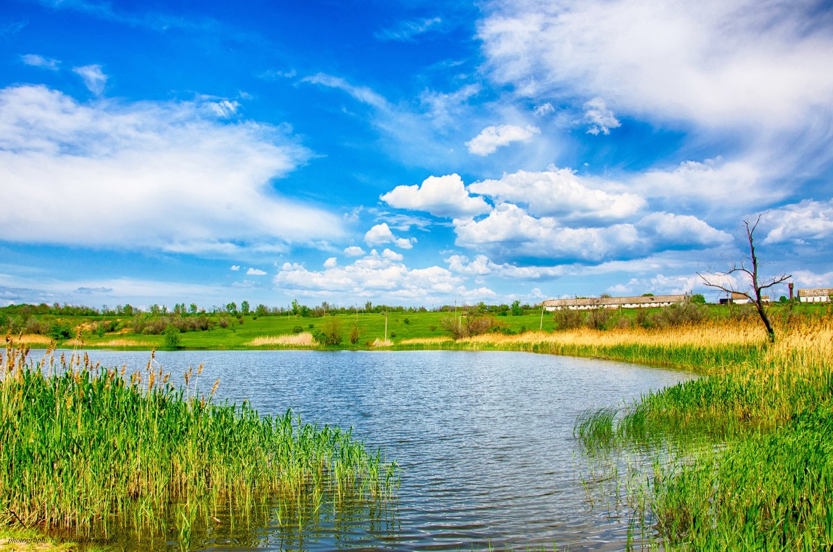
<instances>
[{"instance_id":1,"label":"whole bright blue sky with white clouds above the horizon","mask_svg":"<svg viewBox=\"0 0 833 552\"><path fill-rule=\"evenodd\" d=\"M831 287L831 13L7 0L0 304Z\"/></svg>"}]
</instances>

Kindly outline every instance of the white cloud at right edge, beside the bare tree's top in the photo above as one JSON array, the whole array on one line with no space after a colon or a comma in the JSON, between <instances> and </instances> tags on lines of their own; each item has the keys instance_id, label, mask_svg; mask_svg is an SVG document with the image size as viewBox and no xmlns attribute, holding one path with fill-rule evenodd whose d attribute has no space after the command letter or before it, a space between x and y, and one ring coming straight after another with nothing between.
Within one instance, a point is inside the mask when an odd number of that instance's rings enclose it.
<instances>
[{"instance_id":1,"label":"white cloud at right edge, beside the bare tree's top","mask_svg":"<svg viewBox=\"0 0 833 552\"><path fill-rule=\"evenodd\" d=\"M827 202L805 199L801 203L774 209L761 219L768 228L762 243L803 243L808 239L833 236L833 200Z\"/></svg>"}]
</instances>

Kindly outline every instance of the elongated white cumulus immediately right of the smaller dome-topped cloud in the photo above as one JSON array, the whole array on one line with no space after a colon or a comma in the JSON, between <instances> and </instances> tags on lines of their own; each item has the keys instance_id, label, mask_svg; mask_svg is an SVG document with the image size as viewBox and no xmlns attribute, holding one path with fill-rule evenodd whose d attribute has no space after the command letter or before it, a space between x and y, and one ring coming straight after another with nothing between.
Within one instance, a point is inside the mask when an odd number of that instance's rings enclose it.
<instances>
[{"instance_id":1,"label":"elongated white cumulus immediately right of the smaller dome-topped cloud","mask_svg":"<svg viewBox=\"0 0 833 552\"><path fill-rule=\"evenodd\" d=\"M536 216L566 220L622 220L646 207L646 201L636 194L608 193L597 184L569 168L553 168L541 173L504 174L500 180L473 183L469 189L499 202L526 204Z\"/></svg>"}]
</instances>

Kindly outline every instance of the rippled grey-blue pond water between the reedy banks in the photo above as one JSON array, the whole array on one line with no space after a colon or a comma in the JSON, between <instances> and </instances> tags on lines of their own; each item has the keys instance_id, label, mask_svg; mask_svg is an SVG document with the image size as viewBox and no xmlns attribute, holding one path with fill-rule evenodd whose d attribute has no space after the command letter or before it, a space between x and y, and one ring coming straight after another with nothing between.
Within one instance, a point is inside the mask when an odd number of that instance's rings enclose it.
<instances>
[{"instance_id":1,"label":"rippled grey-blue pond water between the reedy banks","mask_svg":"<svg viewBox=\"0 0 833 552\"><path fill-rule=\"evenodd\" d=\"M34 356L34 355L33 355ZM91 351L144 368L147 352ZM392 511L322 513L308 527L262 519L245 539L203 549L623 549L626 519L591 508L572 436L586 409L622 405L690 379L634 364L510 352L157 352L182 378L204 364L207 392L260 414L353 427L401 467ZM212 548L214 547L214 548Z\"/></svg>"}]
</instances>

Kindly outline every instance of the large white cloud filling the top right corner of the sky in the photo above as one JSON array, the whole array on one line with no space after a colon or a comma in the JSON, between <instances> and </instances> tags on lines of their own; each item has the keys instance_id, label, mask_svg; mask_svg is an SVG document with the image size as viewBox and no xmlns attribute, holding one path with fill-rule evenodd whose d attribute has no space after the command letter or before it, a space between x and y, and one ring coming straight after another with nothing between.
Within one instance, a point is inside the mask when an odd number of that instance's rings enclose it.
<instances>
[{"instance_id":1,"label":"large white cloud filling the top right corner of the sky","mask_svg":"<svg viewBox=\"0 0 833 552\"><path fill-rule=\"evenodd\" d=\"M830 113L833 33L814 3L492 2L478 26L498 83L616 98L648 118L794 127ZM817 23L817 24L814 24Z\"/></svg>"}]
</instances>

